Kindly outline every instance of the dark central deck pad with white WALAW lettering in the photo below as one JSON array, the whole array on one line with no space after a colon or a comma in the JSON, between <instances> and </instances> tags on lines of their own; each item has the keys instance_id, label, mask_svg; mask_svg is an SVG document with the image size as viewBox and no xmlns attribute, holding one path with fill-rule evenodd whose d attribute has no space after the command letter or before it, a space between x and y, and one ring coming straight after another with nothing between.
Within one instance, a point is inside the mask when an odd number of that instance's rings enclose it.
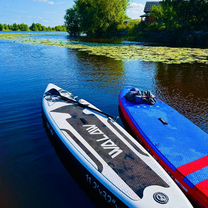
<instances>
[{"instance_id":1,"label":"dark central deck pad with white WALAW lettering","mask_svg":"<svg viewBox=\"0 0 208 208\"><path fill-rule=\"evenodd\" d=\"M85 114L83 108L76 104L61 107L52 112L70 114L71 118L67 119L67 122L79 132L88 144L90 144L140 198L143 197L143 191L148 186L158 185L169 187L159 175L129 149L129 147L94 114ZM118 129L114 129L118 131ZM71 134L69 134L69 136L71 136ZM80 144L78 143L78 145ZM83 149L83 151L85 151L85 149ZM143 151L140 150L138 152L141 154ZM87 154L89 157L92 156L88 152ZM92 160L95 161L94 158L92 158ZM102 168L99 168L99 171L101 170Z\"/></svg>"}]
</instances>

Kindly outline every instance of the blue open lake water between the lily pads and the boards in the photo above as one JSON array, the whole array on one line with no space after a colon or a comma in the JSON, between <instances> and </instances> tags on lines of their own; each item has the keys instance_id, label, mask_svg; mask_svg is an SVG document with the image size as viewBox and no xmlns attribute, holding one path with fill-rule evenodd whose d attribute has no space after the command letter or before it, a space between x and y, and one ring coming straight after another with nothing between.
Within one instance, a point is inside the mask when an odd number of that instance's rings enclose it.
<instances>
[{"instance_id":1,"label":"blue open lake water between the lily pads and the boards","mask_svg":"<svg viewBox=\"0 0 208 208\"><path fill-rule=\"evenodd\" d=\"M64 33L51 38L67 40ZM49 82L113 116L120 90L149 89L208 132L208 65L122 62L0 41L1 208L98 207L65 168L43 127L41 99Z\"/></svg>"}]
</instances>

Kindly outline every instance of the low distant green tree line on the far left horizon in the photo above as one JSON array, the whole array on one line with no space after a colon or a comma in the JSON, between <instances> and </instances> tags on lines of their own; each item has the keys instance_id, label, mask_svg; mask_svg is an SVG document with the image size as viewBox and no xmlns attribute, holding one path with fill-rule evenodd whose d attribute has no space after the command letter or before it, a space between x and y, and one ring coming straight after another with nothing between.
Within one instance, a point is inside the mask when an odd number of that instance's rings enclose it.
<instances>
[{"instance_id":1,"label":"low distant green tree line on the far left horizon","mask_svg":"<svg viewBox=\"0 0 208 208\"><path fill-rule=\"evenodd\" d=\"M47 32L53 32L53 31L60 31L65 32L66 27L63 25L58 25L55 27L46 27L44 25L41 25L39 23L33 23L32 25L28 26L27 24L0 24L0 31L47 31Z\"/></svg>"}]
</instances>

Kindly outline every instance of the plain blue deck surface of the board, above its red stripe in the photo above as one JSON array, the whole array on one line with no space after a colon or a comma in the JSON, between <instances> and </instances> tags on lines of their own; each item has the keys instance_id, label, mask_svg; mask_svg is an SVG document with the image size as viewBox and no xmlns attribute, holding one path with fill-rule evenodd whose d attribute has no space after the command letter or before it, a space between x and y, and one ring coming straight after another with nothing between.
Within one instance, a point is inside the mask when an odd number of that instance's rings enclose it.
<instances>
[{"instance_id":1,"label":"plain blue deck surface of the board, above its red stripe","mask_svg":"<svg viewBox=\"0 0 208 208\"><path fill-rule=\"evenodd\" d=\"M136 128L173 169L208 155L208 135L204 131L161 100L153 106L127 101L124 96L128 91L121 92L120 102Z\"/></svg>"}]
</instances>

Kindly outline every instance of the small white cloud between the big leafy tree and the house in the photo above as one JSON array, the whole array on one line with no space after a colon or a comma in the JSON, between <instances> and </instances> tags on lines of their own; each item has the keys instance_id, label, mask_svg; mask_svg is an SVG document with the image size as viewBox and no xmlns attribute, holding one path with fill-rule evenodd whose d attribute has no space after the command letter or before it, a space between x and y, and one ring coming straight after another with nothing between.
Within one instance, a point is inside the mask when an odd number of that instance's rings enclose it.
<instances>
[{"instance_id":1,"label":"small white cloud between the big leafy tree and the house","mask_svg":"<svg viewBox=\"0 0 208 208\"><path fill-rule=\"evenodd\" d=\"M139 19L144 14L144 4L132 2L127 9L128 17L132 19Z\"/></svg>"}]
</instances>

